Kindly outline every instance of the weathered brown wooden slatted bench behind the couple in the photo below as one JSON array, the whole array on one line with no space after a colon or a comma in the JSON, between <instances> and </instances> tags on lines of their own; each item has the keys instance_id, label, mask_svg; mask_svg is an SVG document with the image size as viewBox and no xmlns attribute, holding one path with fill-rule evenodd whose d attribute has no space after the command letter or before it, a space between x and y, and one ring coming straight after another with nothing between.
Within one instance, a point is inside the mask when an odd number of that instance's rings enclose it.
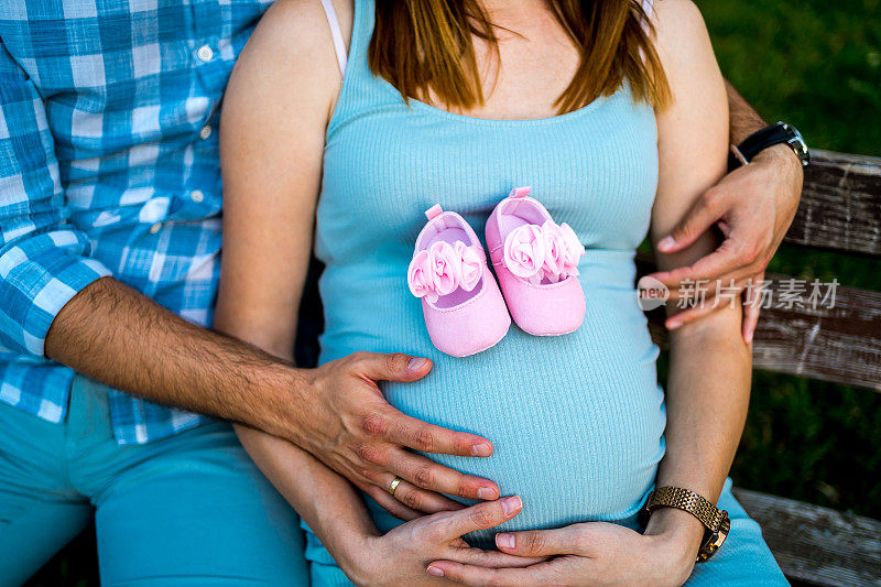
<instances>
[{"instance_id":1,"label":"weathered brown wooden slatted bench behind the couple","mask_svg":"<svg viewBox=\"0 0 881 587\"><path fill-rule=\"evenodd\" d=\"M785 242L881 258L881 157L815 152ZM651 269L650 259L640 261L642 272ZM773 295L787 278L768 279ZM650 313L652 336L665 346L662 324L663 311ZM755 369L881 391L881 293L839 285L833 308L763 309L753 362ZM879 471L857 474L881 482ZM735 494L762 525L791 579L881 585L881 522L747 489Z\"/></svg>"}]
</instances>

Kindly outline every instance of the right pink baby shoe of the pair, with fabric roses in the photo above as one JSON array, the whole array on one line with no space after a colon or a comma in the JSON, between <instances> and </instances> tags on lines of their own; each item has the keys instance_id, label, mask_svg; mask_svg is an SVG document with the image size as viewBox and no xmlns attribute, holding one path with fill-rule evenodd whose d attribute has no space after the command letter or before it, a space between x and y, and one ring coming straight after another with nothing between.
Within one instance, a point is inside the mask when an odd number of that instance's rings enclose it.
<instances>
[{"instance_id":1,"label":"right pink baby shoe of the pair, with fabric roses","mask_svg":"<svg viewBox=\"0 0 881 587\"><path fill-rule=\"evenodd\" d=\"M518 187L487 220L487 248L511 316L536 336L577 330L585 319L578 260L585 248L567 225Z\"/></svg>"}]
</instances>

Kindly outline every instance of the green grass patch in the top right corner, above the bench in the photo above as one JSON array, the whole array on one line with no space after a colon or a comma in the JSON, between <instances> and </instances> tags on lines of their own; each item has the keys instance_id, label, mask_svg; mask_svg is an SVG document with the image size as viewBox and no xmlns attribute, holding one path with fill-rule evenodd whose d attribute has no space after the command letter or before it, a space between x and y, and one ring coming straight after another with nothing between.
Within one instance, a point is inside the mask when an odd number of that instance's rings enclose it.
<instances>
[{"instance_id":1,"label":"green grass patch in the top right corner, above the bench","mask_svg":"<svg viewBox=\"0 0 881 587\"><path fill-rule=\"evenodd\" d=\"M697 4L722 72L769 120L814 146L881 154L879 0Z\"/></svg>"}]
</instances>

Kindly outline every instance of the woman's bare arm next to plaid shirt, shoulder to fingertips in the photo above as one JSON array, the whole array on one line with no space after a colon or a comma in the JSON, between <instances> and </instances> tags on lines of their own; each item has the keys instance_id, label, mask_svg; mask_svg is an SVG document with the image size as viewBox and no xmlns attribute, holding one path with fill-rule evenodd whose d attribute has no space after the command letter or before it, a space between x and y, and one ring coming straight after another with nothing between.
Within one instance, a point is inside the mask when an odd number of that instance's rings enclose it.
<instances>
[{"instance_id":1,"label":"woman's bare arm next to plaid shirt, shoulder to fingertips","mask_svg":"<svg viewBox=\"0 0 881 587\"><path fill-rule=\"evenodd\" d=\"M338 12L350 23L351 11L342 8ZM282 0L270 9L242 52L224 105L224 259L215 328L285 360L293 357L325 129L339 91L333 51L319 2ZM341 359L334 363L342 367L325 370L345 371L365 359ZM428 368L422 366L402 380L418 379ZM359 379L355 372L350 376L350 380ZM382 399L376 385L373 393ZM355 396L351 389L341 394ZM352 401L363 402L363 398ZM236 431L263 474L359 585L428 581L425 566L437 556L477 565L534 562L468 548L459 540L464 533L516 515L521 509L518 498L463 509L460 503L402 482L395 498L442 513L379 536L361 496L344 477L284 439L242 425ZM459 443L474 438L458 435ZM463 446L470 456L470 444ZM498 497L498 489L488 481L476 483L476 478L449 474L457 476L454 492L472 493L477 487L490 487ZM354 478L359 481L358 476ZM420 515L376 485L360 481L359 487L399 517Z\"/></svg>"}]
</instances>

